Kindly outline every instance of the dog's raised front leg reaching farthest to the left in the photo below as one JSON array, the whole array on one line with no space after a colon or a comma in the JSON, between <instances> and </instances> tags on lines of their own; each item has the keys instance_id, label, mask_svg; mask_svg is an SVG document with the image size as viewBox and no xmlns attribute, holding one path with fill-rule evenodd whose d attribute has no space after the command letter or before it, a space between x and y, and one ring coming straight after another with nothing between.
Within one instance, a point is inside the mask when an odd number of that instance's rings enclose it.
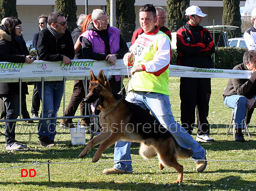
<instances>
[{"instance_id":1,"label":"dog's raised front leg reaching farthest to the left","mask_svg":"<svg viewBox=\"0 0 256 191\"><path fill-rule=\"evenodd\" d=\"M105 139L107 139L107 137L109 137L109 135L110 133L101 132L100 134L95 136L92 140L89 141L89 143L85 146L83 151L79 154L79 158L84 158L89 152L89 150L91 150L91 148L103 142Z\"/></svg>"}]
</instances>

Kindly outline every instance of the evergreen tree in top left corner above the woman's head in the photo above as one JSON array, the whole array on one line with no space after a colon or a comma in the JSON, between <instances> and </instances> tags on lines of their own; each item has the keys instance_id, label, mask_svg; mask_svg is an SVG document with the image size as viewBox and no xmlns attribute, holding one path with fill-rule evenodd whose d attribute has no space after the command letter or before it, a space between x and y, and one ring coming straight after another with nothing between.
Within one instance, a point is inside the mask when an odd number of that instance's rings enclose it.
<instances>
[{"instance_id":1,"label":"evergreen tree in top left corner above the woman's head","mask_svg":"<svg viewBox=\"0 0 256 191\"><path fill-rule=\"evenodd\" d=\"M18 18L16 0L0 0L0 20L6 17Z\"/></svg>"}]
</instances>

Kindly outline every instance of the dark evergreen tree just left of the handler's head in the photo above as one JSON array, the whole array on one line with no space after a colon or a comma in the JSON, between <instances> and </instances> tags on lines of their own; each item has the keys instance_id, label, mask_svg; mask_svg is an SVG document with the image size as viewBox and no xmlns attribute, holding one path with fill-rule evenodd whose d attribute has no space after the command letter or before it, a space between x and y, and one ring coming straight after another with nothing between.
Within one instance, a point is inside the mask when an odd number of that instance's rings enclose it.
<instances>
[{"instance_id":1,"label":"dark evergreen tree just left of the handler's head","mask_svg":"<svg viewBox=\"0 0 256 191\"><path fill-rule=\"evenodd\" d=\"M130 42L135 30L135 0L115 0L116 27L126 42ZM107 14L110 14L110 0L107 0Z\"/></svg>"}]
</instances>

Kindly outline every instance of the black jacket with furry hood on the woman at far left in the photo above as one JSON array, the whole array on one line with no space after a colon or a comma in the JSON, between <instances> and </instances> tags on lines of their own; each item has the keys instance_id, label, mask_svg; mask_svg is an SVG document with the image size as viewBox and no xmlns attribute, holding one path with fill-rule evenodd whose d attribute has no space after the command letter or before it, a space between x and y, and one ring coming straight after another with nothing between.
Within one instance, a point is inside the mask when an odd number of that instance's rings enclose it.
<instances>
[{"instance_id":1,"label":"black jacket with furry hood on the woman at far left","mask_svg":"<svg viewBox=\"0 0 256 191\"><path fill-rule=\"evenodd\" d=\"M27 55L25 41L12 44L12 37L0 26L0 62L24 63ZM20 94L19 82L0 83L0 94ZM22 94L28 94L27 82L22 82Z\"/></svg>"}]
</instances>

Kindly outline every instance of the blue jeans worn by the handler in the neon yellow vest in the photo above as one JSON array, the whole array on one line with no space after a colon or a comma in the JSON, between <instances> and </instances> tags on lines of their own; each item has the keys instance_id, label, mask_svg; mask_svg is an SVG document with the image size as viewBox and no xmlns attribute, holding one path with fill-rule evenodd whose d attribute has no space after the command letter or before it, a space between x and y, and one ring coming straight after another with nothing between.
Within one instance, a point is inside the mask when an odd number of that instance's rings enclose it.
<instances>
[{"instance_id":1,"label":"blue jeans worn by the handler in the neon yellow vest","mask_svg":"<svg viewBox=\"0 0 256 191\"><path fill-rule=\"evenodd\" d=\"M173 118L169 96L154 92L129 92L125 99L131 103L138 103L143 109L150 109L159 122L171 132L180 146L192 148L194 162L204 159L206 154L204 148ZM130 146L131 142L116 142L114 150L115 169L122 172L132 172L131 161L119 161L131 160Z\"/></svg>"}]
</instances>

